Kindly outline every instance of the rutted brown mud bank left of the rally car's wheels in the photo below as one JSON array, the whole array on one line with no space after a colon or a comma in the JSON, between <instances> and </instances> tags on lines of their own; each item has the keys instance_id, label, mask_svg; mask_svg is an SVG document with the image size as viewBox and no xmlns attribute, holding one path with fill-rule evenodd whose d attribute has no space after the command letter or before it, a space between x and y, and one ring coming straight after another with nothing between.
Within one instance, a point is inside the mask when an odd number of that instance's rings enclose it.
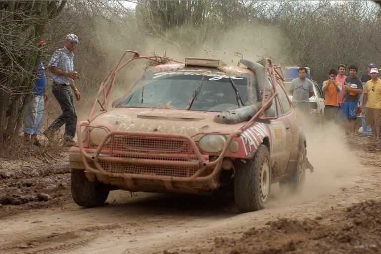
<instances>
[{"instance_id":1,"label":"rutted brown mud bank left of the rally car's wheels","mask_svg":"<svg viewBox=\"0 0 381 254\"><path fill-rule=\"evenodd\" d=\"M2 159L0 165L0 216L50 207L70 196L67 154L42 161Z\"/></svg>"}]
</instances>

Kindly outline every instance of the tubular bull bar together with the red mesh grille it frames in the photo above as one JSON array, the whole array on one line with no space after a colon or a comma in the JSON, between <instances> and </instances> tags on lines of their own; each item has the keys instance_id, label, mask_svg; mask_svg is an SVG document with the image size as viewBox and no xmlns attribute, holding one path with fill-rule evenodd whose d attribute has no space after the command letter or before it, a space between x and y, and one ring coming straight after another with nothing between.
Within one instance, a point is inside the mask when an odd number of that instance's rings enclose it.
<instances>
[{"instance_id":1,"label":"tubular bull bar together with the red mesh grille it frames","mask_svg":"<svg viewBox=\"0 0 381 254\"><path fill-rule=\"evenodd\" d=\"M120 183L116 184L119 186L127 185L129 190L140 190L139 183L135 183L140 180L145 180L145 184L146 180L160 183L170 191L176 189L175 183L183 186L180 187L183 190L187 187L216 189L224 154L239 132L230 134L217 159L210 161L209 155L201 154L191 137L182 134L111 131L96 148L85 148L81 127L96 127L87 121L79 122L79 148L71 150L81 154L85 173L91 172L109 183Z\"/></svg>"}]
</instances>

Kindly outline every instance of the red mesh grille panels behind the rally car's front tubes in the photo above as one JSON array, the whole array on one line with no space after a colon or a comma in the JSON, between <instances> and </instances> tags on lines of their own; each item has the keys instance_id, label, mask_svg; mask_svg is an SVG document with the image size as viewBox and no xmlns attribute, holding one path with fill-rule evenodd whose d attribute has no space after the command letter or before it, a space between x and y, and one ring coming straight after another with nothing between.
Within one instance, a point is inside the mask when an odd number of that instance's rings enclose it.
<instances>
[{"instance_id":1,"label":"red mesh grille panels behind the rally car's front tubes","mask_svg":"<svg viewBox=\"0 0 381 254\"><path fill-rule=\"evenodd\" d=\"M112 157L161 161L160 164L124 163L109 161ZM181 162L198 162L190 142L182 138L142 137L129 135L111 135L103 146L98 158L100 166L110 173L129 173L156 176L190 177L198 167L181 165ZM165 162L179 162L165 165Z\"/></svg>"}]
</instances>

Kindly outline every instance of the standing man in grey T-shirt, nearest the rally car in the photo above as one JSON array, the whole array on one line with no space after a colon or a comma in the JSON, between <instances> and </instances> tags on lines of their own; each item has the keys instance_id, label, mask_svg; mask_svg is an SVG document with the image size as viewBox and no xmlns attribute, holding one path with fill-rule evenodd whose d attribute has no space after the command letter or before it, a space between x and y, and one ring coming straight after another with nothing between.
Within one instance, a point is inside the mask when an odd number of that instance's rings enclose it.
<instances>
[{"instance_id":1,"label":"standing man in grey T-shirt, nearest the rally car","mask_svg":"<svg viewBox=\"0 0 381 254\"><path fill-rule=\"evenodd\" d=\"M308 117L310 113L309 98L314 95L312 81L306 78L307 68L299 68L299 77L291 81L289 93L292 95L292 102L296 105L296 110L302 118Z\"/></svg>"}]
</instances>

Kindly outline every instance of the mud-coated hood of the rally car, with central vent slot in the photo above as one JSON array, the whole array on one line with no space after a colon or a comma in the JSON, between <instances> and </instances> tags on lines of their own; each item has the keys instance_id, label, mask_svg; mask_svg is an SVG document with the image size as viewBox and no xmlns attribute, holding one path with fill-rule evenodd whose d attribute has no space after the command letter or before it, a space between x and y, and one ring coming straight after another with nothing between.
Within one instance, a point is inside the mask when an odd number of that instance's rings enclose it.
<instances>
[{"instance_id":1,"label":"mud-coated hood of the rally car, with central vent slot","mask_svg":"<svg viewBox=\"0 0 381 254\"><path fill-rule=\"evenodd\" d=\"M218 112L116 108L98 115L90 125L103 126L110 131L173 133L191 137L198 133L210 132L230 134L245 124L245 122L232 125L216 123L213 121L216 114Z\"/></svg>"}]
</instances>

